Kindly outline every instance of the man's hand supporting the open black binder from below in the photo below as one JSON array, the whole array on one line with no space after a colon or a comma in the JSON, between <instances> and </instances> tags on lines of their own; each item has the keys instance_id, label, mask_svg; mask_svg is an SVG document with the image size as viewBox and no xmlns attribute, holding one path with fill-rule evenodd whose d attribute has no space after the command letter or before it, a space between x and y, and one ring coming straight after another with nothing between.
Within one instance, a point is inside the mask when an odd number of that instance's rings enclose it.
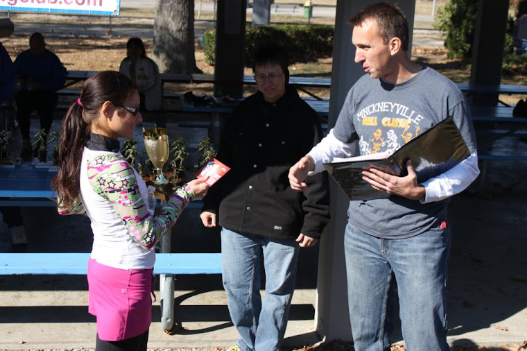
<instances>
[{"instance_id":1,"label":"man's hand supporting the open black binder from below","mask_svg":"<svg viewBox=\"0 0 527 351\"><path fill-rule=\"evenodd\" d=\"M406 162L406 169L408 176L398 177L372 168L362 172L363 180L369 182L374 189L379 191L386 191L411 200L424 199L426 191L422 185L417 184L417 174L415 174L410 160Z\"/></svg>"}]
</instances>

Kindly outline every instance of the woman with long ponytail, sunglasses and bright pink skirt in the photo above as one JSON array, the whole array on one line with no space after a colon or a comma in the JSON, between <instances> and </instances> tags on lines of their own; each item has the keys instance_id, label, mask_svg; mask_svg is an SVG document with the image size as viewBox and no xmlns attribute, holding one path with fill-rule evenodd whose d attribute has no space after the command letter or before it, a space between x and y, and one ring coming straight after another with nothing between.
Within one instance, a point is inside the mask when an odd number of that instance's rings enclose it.
<instances>
[{"instance_id":1,"label":"woman with long ponytail, sunglasses and bright pink skirt","mask_svg":"<svg viewBox=\"0 0 527 351\"><path fill-rule=\"evenodd\" d=\"M62 121L53 189L60 214L85 213L92 222L87 278L97 351L146 350L155 243L208 189L203 180L192 180L154 215L144 181L119 152L118 138L131 139L142 121L139 103L132 80L103 71L86 80Z\"/></svg>"}]
</instances>

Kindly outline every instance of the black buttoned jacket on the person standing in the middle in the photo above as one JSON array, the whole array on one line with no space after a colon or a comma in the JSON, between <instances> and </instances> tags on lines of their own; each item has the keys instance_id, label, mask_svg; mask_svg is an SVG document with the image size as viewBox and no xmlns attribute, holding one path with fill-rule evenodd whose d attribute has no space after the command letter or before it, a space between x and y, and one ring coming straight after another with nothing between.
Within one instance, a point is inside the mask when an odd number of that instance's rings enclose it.
<instances>
[{"instance_id":1,"label":"black buttoned jacket on the person standing in the middle","mask_svg":"<svg viewBox=\"0 0 527 351\"><path fill-rule=\"evenodd\" d=\"M322 139L318 114L295 88L275 103L261 92L243 100L223 129L218 160L230 171L203 199L223 228L275 239L302 233L320 238L329 221L326 172L310 176L304 192L291 189L289 168Z\"/></svg>"}]
</instances>

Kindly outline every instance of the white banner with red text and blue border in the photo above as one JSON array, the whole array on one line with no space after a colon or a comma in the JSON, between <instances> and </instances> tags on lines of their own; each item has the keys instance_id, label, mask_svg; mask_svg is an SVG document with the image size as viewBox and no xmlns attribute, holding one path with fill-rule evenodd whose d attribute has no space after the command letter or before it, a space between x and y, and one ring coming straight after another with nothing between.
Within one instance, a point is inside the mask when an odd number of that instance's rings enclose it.
<instances>
[{"instance_id":1,"label":"white banner with red text and blue border","mask_svg":"<svg viewBox=\"0 0 527 351\"><path fill-rule=\"evenodd\" d=\"M121 0L0 0L1 11L119 16Z\"/></svg>"}]
</instances>

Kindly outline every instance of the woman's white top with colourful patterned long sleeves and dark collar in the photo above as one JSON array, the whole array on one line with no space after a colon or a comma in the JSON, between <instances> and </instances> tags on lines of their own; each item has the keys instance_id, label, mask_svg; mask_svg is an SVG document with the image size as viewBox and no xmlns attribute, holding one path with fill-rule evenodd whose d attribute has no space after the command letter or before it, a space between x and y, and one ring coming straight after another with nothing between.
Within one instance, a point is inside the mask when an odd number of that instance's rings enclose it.
<instances>
[{"instance_id":1,"label":"woman's white top with colourful patterned long sleeves and dark collar","mask_svg":"<svg viewBox=\"0 0 527 351\"><path fill-rule=\"evenodd\" d=\"M115 268L146 269L154 265L155 243L193 198L190 187L178 189L154 216L146 184L119 153L119 141L92 134L83 152L80 197L71 207L59 205L58 212L89 216L92 259Z\"/></svg>"}]
</instances>

